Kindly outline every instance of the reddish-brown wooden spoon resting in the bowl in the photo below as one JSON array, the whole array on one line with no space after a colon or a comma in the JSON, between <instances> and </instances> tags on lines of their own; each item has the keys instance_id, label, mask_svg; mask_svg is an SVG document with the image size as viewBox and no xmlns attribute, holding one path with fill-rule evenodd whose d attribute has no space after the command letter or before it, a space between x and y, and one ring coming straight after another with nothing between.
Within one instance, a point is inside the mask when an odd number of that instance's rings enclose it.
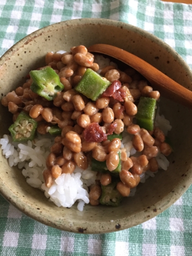
<instances>
[{"instance_id":1,"label":"reddish-brown wooden spoon resting in the bowl","mask_svg":"<svg viewBox=\"0 0 192 256\"><path fill-rule=\"evenodd\" d=\"M128 64L143 75L163 96L192 108L192 91L189 91L182 85L176 83L143 59L140 59L123 49L108 44L94 44L88 48L88 51L107 54Z\"/></svg>"}]
</instances>

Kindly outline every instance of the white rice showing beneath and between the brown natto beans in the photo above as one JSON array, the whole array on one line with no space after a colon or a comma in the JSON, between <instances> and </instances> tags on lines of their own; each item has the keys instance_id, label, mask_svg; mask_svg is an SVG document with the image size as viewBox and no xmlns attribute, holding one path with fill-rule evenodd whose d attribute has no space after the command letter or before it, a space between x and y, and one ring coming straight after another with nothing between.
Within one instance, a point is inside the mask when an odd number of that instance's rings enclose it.
<instances>
[{"instance_id":1,"label":"white rice showing beneath and between the brown natto beans","mask_svg":"<svg viewBox=\"0 0 192 256\"><path fill-rule=\"evenodd\" d=\"M170 123L165 117L159 116L159 113L157 113L155 123L157 124L159 120L163 123L164 133L167 134L168 130L171 129ZM123 132L121 149L126 150L128 157L141 155L133 148L132 137L133 135ZM8 159L11 167L17 165L19 169L22 169L22 174L26 177L29 185L43 190L45 196L59 207L71 207L77 201L77 208L82 211L85 203L89 203L88 187L95 184L96 171L91 171L91 166L85 171L76 166L73 174L62 174L55 179L50 188L46 187L43 180L43 171L47 169L46 158L50 153L49 148L52 144L53 139L44 138L40 135L37 139L22 144L12 142L11 136L6 134L0 139L2 154ZM156 156L156 160L159 169L167 170L169 161L165 155L159 154ZM146 171L140 175L140 182L144 183L147 178L154 176L154 172ZM134 196L135 192L136 187L131 189L129 196Z\"/></svg>"}]
</instances>

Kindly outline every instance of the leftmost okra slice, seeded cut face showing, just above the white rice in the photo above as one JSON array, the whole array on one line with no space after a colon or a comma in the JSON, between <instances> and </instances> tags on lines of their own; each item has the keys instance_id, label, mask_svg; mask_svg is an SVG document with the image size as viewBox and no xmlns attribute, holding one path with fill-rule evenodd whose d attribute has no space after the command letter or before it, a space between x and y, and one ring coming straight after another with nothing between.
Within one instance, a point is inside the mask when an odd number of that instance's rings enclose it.
<instances>
[{"instance_id":1,"label":"leftmost okra slice, seeded cut face showing, just above the white rice","mask_svg":"<svg viewBox=\"0 0 192 256\"><path fill-rule=\"evenodd\" d=\"M34 139L36 128L37 122L25 112L21 112L9 131L13 141L25 141Z\"/></svg>"}]
</instances>

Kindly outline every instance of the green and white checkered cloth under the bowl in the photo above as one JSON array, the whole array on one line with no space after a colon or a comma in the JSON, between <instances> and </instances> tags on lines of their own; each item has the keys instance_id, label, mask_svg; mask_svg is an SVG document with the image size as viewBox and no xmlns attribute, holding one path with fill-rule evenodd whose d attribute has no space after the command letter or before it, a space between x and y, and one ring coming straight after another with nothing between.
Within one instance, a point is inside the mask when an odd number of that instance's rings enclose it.
<instances>
[{"instance_id":1,"label":"green and white checkered cloth under the bowl","mask_svg":"<svg viewBox=\"0 0 192 256\"><path fill-rule=\"evenodd\" d=\"M75 18L123 21L153 33L192 68L192 5L160 0L0 0L0 56L35 30ZM192 187L136 227L80 235L30 219L0 196L1 256L192 256Z\"/></svg>"}]
</instances>

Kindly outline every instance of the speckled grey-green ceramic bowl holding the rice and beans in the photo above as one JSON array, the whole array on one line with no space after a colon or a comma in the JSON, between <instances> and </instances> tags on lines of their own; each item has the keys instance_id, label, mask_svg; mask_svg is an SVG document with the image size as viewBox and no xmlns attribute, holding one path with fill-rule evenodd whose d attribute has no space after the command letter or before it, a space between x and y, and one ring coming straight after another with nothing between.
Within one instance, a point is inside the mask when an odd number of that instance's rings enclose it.
<instances>
[{"instance_id":1,"label":"speckled grey-green ceramic bowl holding the rice and beans","mask_svg":"<svg viewBox=\"0 0 192 256\"><path fill-rule=\"evenodd\" d=\"M71 46L95 43L111 44L149 62L184 87L192 90L192 75L187 64L167 44L142 29L105 19L64 21L45 27L23 38L0 59L1 97L21 85L30 70L44 64L47 52ZM170 207L192 181L192 111L162 98L161 113L170 120L169 137L174 152L168 157L167 171L139 184L134 197L123 200L117 208L86 205L83 212L59 208L43 192L30 187L21 170L9 167L0 155L0 193L16 208L33 219L71 232L107 233L141 224ZM0 136L8 133L11 114L0 106Z\"/></svg>"}]
</instances>

